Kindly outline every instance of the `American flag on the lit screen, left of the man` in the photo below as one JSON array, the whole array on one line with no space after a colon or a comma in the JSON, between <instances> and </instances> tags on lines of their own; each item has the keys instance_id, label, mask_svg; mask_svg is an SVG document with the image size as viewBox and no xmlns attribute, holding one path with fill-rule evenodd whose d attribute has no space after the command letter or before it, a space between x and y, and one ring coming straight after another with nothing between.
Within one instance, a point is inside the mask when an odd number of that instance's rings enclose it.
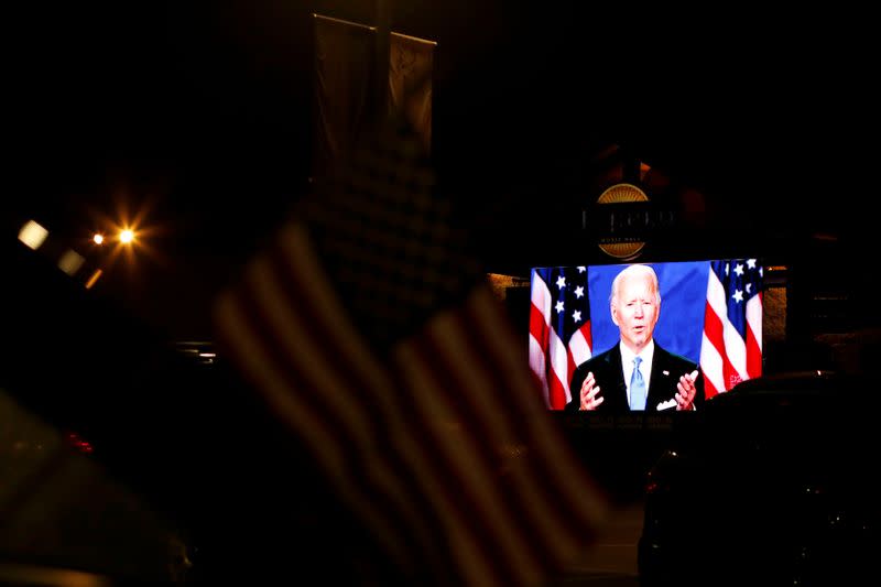
<instances>
[{"instance_id":1,"label":"American flag on the lit screen, left of the man","mask_svg":"<svg viewBox=\"0 0 881 587\"><path fill-rule=\"evenodd\" d=\"M575 368L591 355L587 268L533 269L530 293L530 369L545 405L562 410Z\"/></svg>"}]
</instances>

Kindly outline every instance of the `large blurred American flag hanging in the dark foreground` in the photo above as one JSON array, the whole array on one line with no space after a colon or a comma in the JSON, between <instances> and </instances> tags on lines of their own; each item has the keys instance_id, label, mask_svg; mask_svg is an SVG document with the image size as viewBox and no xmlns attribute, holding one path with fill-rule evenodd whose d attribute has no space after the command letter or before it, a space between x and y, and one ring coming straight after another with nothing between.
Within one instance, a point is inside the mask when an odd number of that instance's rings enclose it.
<instances>
[{"instance_id":1,"label":"large blurred American flag hanging in the dark foreground","mask_svg":"<svg viewBox=\"0 0 881 587\"><path fill-rule=\"evenodd\" d=\"M605 494L396 120L216 307L218 341L406 578L547 585Z\"/></svg>"}]
</instances>

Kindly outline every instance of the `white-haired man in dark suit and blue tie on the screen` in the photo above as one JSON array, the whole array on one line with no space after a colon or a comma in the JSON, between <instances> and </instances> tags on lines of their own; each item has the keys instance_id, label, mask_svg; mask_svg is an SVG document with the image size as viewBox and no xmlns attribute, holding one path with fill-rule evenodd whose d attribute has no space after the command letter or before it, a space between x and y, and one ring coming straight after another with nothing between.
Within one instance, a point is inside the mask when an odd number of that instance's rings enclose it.
<instances>
[{"instance_id":1,"label":"white-haired man in dark suit and blue tie on the screen","mask_svg":"<svg viewBox=\"0 0 881 587\"><path fill-rule=\"evenodd\" d=\"M653 338L661 314L657 274L649 265L628 265L614 278L610 300L620 339L583 362L573 373L566 410L694 410L704 399L698 366L664 350Z\"/></svg>"}]
</instances>

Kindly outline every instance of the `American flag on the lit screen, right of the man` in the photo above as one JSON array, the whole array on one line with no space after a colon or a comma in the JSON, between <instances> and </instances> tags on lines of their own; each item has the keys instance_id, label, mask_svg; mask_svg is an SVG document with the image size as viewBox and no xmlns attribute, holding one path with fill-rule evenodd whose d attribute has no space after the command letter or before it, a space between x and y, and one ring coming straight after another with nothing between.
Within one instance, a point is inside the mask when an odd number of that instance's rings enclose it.
<instances>
[{"instance_id":1,"label":"American flag on the lit screen, right of the man","mask_svg":"<svg viewBox=\"0 0 881 587\"><path fill-rule=\"evenodd\" d=\"M758 260L710 262L700 369L707 398L762 374L762 267Z\"/></svg>"}]
</instances>

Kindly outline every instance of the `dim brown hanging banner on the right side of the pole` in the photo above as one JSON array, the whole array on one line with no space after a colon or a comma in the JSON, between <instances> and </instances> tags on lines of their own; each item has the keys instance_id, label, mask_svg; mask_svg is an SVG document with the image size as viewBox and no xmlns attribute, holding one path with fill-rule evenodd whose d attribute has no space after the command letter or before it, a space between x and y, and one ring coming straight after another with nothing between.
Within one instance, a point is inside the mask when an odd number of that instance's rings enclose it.
<instances>
[{"instance_id":1,"label":"dim brown hanging banner on the right side of the pole","mask_svg":"<svg viewBox=\"0 0 881 587\"><path fill-rule=\"evenodd\" d=\"M432 94L434 54L437 43L400 33L389 40L389 110L398 110L418 135L423 148L432 148Z\"/></svg>"}]
</instances>

